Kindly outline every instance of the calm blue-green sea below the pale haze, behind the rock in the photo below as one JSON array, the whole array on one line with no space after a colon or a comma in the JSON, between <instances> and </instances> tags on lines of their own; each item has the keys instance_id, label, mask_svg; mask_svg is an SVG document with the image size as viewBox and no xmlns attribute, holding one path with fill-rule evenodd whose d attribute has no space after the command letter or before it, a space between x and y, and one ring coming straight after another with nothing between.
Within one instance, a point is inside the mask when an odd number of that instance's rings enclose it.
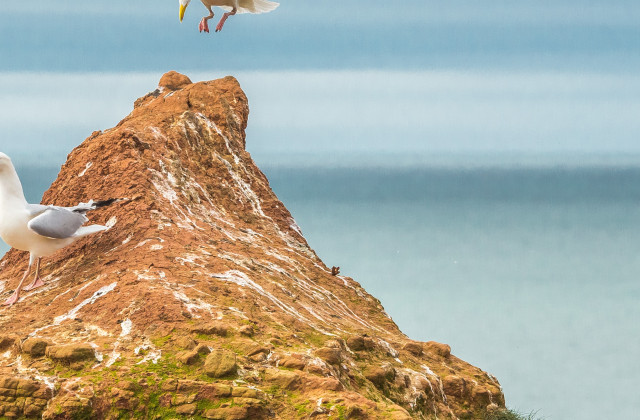
<instances>
[{"instance_id":1,"label":"calm blue-green sea below the pale haze, behind the rock","mask_svg":"<svg viewBox=\"0 0 640 420\"><path fill-rule=\"evenodd\" d=\"M19 172L39 201L57 169ZM327 265L496 375L510 407L637 418L640 167L265 172Z\"/></svg>"}]
</instances>

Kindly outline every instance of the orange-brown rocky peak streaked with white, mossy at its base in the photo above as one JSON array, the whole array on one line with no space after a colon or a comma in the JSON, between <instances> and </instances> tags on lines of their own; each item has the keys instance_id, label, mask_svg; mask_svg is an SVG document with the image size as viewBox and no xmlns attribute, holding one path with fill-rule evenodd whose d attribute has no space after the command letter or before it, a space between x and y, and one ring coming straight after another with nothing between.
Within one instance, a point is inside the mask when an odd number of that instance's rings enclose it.
<instances>
[{"instance_id":1,"label":"orange-brown rocky peak streaked with white, mossy at its base","mask_svg":"<svg viewBox=\"0 0 640 420\"><path fill-rule=\"evenodd\" d=\"M333 276L245 150L233 77L165 75L69 155L43 203L128 198L0 309L0 417L473 418L497 380ZM372 226L372 229L374 227ZM0 262L0 299L26 268ZM92 353L93 350L93 353ZM153 416L151 416L153 415Z\"/></svg>"}]
</instances>

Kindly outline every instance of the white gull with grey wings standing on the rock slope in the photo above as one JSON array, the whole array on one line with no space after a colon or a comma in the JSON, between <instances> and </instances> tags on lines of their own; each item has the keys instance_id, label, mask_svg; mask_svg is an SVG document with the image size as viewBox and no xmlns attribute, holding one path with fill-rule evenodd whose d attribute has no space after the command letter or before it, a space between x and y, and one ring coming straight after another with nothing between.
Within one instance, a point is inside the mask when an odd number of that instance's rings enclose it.
<instances>
[{"instance_id":1,"label":"white gull with grey wings standing on the rock slope","mask_svg":"<svg viewBox=\"0 0 640 420\"><path fill-rule=\"evenodd\" d=\"M29 204L24 198L22 184L9 156L0 152L0 237L11 247L29 251L29 267L11 297L2 305L11 306L20 298L21 290L33 290L43 286L40 279L40 260L57 250L71 245L76 240L102 232L109 226L82 226L85 213L108 206L120 199L104 201L90 200L75 207L44 206ZM22 289L22 284L36 262L33 283Z\"/></svg>"}]
</instances>

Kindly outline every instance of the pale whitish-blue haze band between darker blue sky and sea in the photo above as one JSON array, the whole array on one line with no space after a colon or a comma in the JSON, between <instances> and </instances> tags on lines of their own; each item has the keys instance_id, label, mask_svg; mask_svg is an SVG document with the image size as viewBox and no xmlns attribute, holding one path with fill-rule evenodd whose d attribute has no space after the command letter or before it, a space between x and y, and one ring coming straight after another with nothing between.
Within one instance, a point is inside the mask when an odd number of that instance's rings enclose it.
<instances>
[{"instance_id":1,"label":"pale whitish-blue haze band between darker blue sky and sea","mask_svg":"<svg viewBox=\"0 0 640 420\"><path fill-rule=\"evenodd\" d=\"M386 166L424 154L425 164L433 154L470 153L473 160L478 153L532 152L562 154L573 164L585 153L598 159L603 153L640 153L638 74L219 69L187 74L193 81L236 76L251 110L247 150L260 164L290 153L299 155L299 166L361 166L358 159L371 153L376 161L387 155ZM161 75L0 73L0 150L16 162L61 165L92 131L113 127L131 112Z\"/></svg>"}]
</instances>

